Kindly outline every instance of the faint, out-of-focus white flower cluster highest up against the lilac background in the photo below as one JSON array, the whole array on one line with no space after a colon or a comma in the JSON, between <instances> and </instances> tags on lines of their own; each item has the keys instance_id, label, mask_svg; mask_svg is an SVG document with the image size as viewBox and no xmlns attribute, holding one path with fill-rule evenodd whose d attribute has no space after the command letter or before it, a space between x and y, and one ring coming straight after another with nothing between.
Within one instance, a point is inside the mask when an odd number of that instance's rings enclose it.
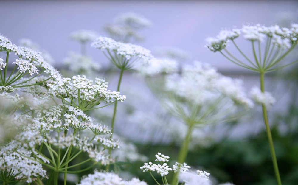
<instances>
[{"instance_id":1,"label":"faint, out-of-focus white flower cluster highest up against the lilac background","mask_svg":"<svg viewBox=\"0 0 298 185\"><path fill-rule=\"evenodd\" d=\"M118 24L127 25L134 29L141 29L144 27L150 27L152 25L150 20L133 12L124 13L117 17L115 21Z\"/></svg>"}]
</instances>

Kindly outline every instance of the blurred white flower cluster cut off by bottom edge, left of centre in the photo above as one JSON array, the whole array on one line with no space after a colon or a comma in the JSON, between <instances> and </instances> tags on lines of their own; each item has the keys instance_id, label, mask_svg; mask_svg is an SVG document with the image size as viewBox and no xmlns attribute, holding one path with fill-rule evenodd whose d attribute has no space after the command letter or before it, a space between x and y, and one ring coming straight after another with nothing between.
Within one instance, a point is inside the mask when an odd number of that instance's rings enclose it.
<instances>
[{"instance_id":1,"label":"blurred white flower cluster cut off by bottom edge, left of centre","mask_svg":"<svg viewBox=\"0 0 298 185\"><path fill-rule=\"evenodd\" d=\"M103 173L94 171L94 174L88 174L85 176L80 184L77 185L147 185L144 181L140 181L138 178L132 178L130 181L125 181L115 173Z\"/></svg>"}]
</instances>

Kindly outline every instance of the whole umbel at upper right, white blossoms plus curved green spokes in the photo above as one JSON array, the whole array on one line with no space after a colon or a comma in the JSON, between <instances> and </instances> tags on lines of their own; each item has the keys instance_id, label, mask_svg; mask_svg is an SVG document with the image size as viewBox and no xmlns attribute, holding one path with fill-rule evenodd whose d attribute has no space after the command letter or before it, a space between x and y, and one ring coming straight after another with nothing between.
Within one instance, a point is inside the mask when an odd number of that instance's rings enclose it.
<instances>
[{"instance_id":1,"label":"whole umbel at upper right, white blossoms plus curved green spokes","mask_svg":"<svg viewBox=\"0 0 298 185\"><path fill-rule=\"evenodd\" d=\"M241 34L244 39L250 42L252 56L247 56L236 44L235 40ZM292 63L273 68L297 45L298 24L292 24L291 28L280 28L277 25L269 27L260 24L244 25L241 29L232 29L231 31L222 30L218 36L207 38L206 42L207 44L205 46L210 51L220 52L233 63L260 73L281 69L298 62L296 60ZM226 46L229 42L233 43L247 62L243 62L227 51ZM261 45L261 43L265 44ZM264 48L261 48L261 46L264 46Z\"/></svg>"}]
</instances>

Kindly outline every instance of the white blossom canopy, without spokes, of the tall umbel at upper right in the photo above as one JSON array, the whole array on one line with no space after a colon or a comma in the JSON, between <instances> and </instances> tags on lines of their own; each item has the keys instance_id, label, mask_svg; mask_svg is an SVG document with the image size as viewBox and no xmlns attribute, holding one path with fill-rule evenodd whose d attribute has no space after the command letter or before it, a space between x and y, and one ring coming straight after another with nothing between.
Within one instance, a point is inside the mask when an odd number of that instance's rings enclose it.
<instances>
[{"instance_id":1,"label":"white blossom canopy, without spokes, of the tall umbel at upper right","mask_svg":"<svg viewBox=\"0 0 298 185\"><path fill-rule=\"evenodd\" d=\"M223 30L215 38L206 39L206 47L213 52L221 51L227 46L230 40L237 38L242 32L243 37L250 41L262 42L264 38L272 38L272 43L281 49L288 49L297 43L298 24L292 24L291 28L280 28L274 26L244 25L242 29L233 29L232 31Z\"/></svg>"}]
</instances>

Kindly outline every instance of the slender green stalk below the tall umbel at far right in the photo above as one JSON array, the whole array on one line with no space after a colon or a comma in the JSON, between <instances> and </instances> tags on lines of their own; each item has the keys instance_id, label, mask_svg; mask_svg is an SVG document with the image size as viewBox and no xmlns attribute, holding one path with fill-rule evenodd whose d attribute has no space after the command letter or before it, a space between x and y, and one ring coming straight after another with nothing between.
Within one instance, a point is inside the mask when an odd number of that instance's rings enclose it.
<instances>
[{"instance_id":1,"label":"slender green stalk below the tall umbel at far right","mask_svg":"<svg viewBox=\"0 0 298 185\"><path fill-rule=\"evenodd\" d=\"M265 92L264 76L265 76L265 73L261 72L260 73L260 83L261 83L261 91L262 92ZM280 180L280 174L279 174L279 170L278 170L274 145L273 145L273 139L272 139L272 135L271 135L270 127L269 127L267 110L266 110L266 106L264 104L262 105L262 110L263 110L263 118L264 118L264 123L265 123L265 126L266 126L268 142L269 142L269 146L270 146L270 152L271 152L271 158L272 158L273 168L274 168L274 172L275 172L275 177L276 177L276 180L277 180L277 184L282 185L281 180Z\"/></svg>"}]
</instances>

